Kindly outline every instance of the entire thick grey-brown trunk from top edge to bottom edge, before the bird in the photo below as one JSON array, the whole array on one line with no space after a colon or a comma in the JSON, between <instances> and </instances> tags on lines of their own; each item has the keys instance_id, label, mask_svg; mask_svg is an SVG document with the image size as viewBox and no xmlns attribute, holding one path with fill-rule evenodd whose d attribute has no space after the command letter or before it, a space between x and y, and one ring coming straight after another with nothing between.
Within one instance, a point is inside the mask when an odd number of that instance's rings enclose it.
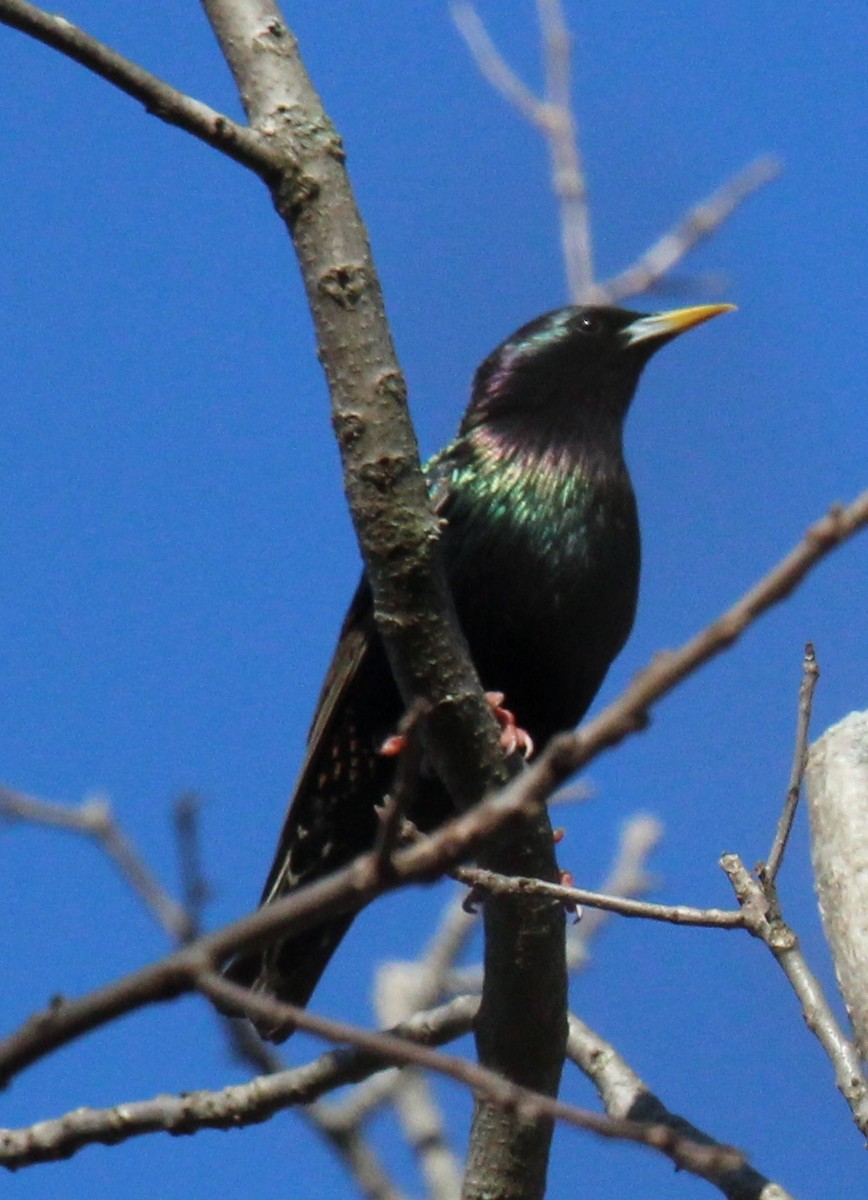
<instances>
[{"instance_id":1,"label":"entire thick grey-brown trunk from top edge to bottom edge, before the bird","mask_svg":"<svg viewBox=\"0 0 868 1200\"><path fill-rule=\"evenodd\" d=\"M463 808L502 782L508 767L457 632L437 556L437 523L407 418L405 383L342 148L277 5L271 0L203 0L203 5L251 125L273 145L286 148L292 164L273 186L273 197L307 290L377 625L405 704L412 709L421 702L430 713L429 751ZM540 811L528 820L516 844L502 842L499 853L529 856L529 874L556 878L547 815ZM498 863L510 869L509 859L492 865ZM520 1062L515 1057L522 997L539 991L565 1000L563 930L552 912L551 905L533 911L507 899L489 906L487 953L507 977L497 984L496 1020L484 997L480 1026L487 1036L480 1054L490 1067L555 1094L567 1036L563 1015L561 1021L540 1022L535 1044L527 1045ZM516 944L538 949L516 959ZM511 1000L504 1003L504 996ZM496 1120L501 1140L537 1147L525 1156L523 1175L532 1181L526 1195L532 1200L544 1186L550 1129L545 1123L520 1127L515 1114L502 1108Z\"/></svg>"}]
</instances>

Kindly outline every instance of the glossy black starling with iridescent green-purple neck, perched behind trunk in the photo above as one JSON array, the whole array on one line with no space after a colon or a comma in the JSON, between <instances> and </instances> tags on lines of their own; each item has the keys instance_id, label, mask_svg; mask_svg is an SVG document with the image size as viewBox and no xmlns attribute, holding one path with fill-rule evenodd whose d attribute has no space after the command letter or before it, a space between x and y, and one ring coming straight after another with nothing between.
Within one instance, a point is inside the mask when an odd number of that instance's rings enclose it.
<instances>
[{"instance_id":1,"label":"glossy black starling with iridescent green-purple neck, perched behind trunk","mask_svg":"<svg viewBox=\"0 0 868 1200\"><path fill-rule=\"evenodd\" d=\"M624 420L651 356L730 311L639 313L570 305L522 325L478 367L457 437L426 466L459 623L485 689L533 745L581 720L633 626L640 574ZM262 905L375 845L395 785L382 752L405 704L363 575L316 706ZM436 778L406 814L420 830L454 810ZM355 913L243 952L234 983L307 1004ZM256 1022L271 1040L289 1021Z\"/></svg>"}]
</instances>

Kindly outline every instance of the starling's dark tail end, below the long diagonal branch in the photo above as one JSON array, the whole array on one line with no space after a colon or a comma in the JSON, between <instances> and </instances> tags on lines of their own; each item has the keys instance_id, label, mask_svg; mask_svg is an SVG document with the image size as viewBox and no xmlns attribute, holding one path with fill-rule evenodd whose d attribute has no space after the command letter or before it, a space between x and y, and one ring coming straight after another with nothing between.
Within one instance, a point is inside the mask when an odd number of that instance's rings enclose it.
<instances>
[{"instance_id":1,"label":"starling's dark tail end, below the long diagonal branch","mask_svg":"<svg viewBox=\"0 0 868 1200\"><path fill-rule=\"evenodd\" d=\"M243 988L304 1008L354 916L337 917L275 942L264 950L238 954L223 968L223 974ZM269 1042L285 1042L295 1030L291 1020L251 1020L259 1036Z\"/></svg>"}]
</instances>

